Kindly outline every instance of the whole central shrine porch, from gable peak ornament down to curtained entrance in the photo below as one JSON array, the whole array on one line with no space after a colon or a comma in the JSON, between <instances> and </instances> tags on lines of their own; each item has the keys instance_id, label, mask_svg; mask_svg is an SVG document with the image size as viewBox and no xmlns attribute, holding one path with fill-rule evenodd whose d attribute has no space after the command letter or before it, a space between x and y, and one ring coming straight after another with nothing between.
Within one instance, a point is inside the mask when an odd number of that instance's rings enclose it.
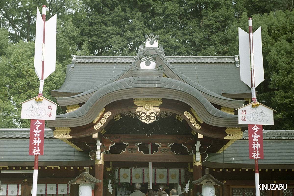
<instances>
[{"instance_id":1,"label":"whole central shrine porch, from gable peak ornament down to curtained entrance","mask_svg":"<svg viewBox=\"0 0 294 196\"><path fill-rule=\"evenodd\" d=\"M225 98L183 75L168 63L158 37L146 35L134 61L111 79L56 98L67 113L48 125L55 138L95 161L95 178L101 180L95 196L126 194L121 188L135 182L142 190L161 183L181 192L193 187L195 195L201 187L191 182L204 174L207 152L243 137L233 111L244 100Z\"/></svg>"}]
</instances>

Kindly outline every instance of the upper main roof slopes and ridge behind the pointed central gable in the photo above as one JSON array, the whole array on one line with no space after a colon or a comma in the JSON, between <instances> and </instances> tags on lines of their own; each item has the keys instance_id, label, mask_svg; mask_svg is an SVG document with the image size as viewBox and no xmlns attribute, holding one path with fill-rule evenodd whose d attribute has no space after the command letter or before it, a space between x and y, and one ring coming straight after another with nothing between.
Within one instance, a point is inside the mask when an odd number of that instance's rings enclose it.
<instances>
[{"instance_id":1,"label":"upper main roof slopes and ridge behind the pointed central gable","mask_svg":"<svg viewBox=\"0 0 294 196\"><path fill-rule=\"evenodd\" d=\"M169 63L188 78L198 81L200 85L218 95L223 92L234 92L236 89L238 89L237 93L247 92L249 89L240 81L240 72L236 68L234 56L168 56L167 58ZM133 56L76 56L74 67L67 65L64 84L54 91L83 93L112 78L133 61ZM218 76L219 80L215 81L214 76Z\"/></svg>"}]
</instances>

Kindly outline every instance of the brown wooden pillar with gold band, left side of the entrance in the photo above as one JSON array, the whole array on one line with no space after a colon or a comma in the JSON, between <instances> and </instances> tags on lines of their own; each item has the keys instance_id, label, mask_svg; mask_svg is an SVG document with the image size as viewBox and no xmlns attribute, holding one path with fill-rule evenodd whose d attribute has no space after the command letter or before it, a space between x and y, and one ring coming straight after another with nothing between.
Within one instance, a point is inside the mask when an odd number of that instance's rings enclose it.
<instances>
[{"instance_id":1,"label":"brown wooden pillar with gold band, left side of the entrance","mask_svg":"<svg viewBox=\"0 0 294 196\"><path fill-rule=\"evenodd\" d=\"M104 161L103 153L101 153L101 160L95 161L95 178L101 180L101 182L95 184L94 196L103 196L103 170Z\"/></svg>"}]
</instances>

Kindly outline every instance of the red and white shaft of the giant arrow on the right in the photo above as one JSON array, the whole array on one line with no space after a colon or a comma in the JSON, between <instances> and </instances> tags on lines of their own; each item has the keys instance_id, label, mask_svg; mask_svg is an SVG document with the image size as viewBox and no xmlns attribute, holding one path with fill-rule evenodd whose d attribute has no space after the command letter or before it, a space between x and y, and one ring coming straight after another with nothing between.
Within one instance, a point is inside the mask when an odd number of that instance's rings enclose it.
<instances>
[{"instance_id":1,"label":"red and white shaft of the giant arrow on the right","mask_svg":"<svg viewBox=\"0 0 294 196\"><path fill-rule=\"evenodd\" d=\"M251 95L252 95L252 101L256 103L252 18L248 18L248 26L249 26L249 46L250 46L250 63L251 63ZM259 196L258 160L254 159L254 163L255 163L255 195Z\"/></svg>"}]
</instances>

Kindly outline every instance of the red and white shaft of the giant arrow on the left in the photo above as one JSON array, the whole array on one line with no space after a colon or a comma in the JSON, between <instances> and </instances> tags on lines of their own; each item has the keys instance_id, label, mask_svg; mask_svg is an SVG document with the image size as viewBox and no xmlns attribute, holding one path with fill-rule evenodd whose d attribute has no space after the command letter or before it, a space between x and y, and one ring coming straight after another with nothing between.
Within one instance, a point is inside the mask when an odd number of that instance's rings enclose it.
<instances>
[{"instance_id":1,"label":"red and white shaft of the giant arrow on the left","mask_svg":"<svg viewBox=\"0 0 294 196\"><path fill-rule=\"evenodd\" d=\"M44 28L43 29L43 43L42 43L42 74L41 74L38 97L43 95L43 88L44 88L44 48L45 48L46 5L42 6L42 19L43 19L43 24L44 24L44 26L43 26L43 28ZM38 171L39 171L38 169L39 169L39 156L35 155L32 196L37 195Z\"/></svg>"}]
</instances>

